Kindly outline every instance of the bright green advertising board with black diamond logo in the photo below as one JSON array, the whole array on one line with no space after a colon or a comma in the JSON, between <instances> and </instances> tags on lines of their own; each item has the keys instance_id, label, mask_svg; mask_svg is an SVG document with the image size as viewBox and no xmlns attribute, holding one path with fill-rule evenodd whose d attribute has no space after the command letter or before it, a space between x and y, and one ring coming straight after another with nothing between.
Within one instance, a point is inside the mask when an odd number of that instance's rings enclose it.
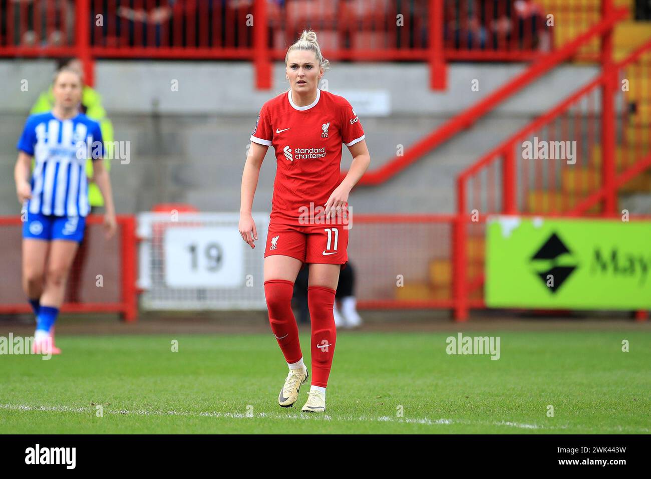
<instances>
[{"instance_id":1,"label":"bright green advertising board with black diamond logo","mask_svg":"<svg viewBox=\"0 0 651 479\"><path fill-rule=\"evenodd\" d=\"M490 308L651 309L651 222L493 216Z\"/></svg>"}]
</instances>

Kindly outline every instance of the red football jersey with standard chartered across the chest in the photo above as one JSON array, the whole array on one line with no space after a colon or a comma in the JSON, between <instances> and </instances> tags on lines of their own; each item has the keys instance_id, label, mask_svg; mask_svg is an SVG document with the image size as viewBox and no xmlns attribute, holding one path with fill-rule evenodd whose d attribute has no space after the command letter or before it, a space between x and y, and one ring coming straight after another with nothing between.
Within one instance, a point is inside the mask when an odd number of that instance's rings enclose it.
<instances>
[{"instance_id":1,"label":"red football jersey with standard chartered across the chest","mask_svg":"<svg viewBox=\"0 0 651 479\"><path fill-rule=\"evenodd\" d=\"M311 105L296 106L288 91L266 102L251 141L275 149L271 221L300 224L310 203L324 207L339 186L342 143L363 139L359 118L342 96L317 89Z\"/></svg>"}]
</instances>

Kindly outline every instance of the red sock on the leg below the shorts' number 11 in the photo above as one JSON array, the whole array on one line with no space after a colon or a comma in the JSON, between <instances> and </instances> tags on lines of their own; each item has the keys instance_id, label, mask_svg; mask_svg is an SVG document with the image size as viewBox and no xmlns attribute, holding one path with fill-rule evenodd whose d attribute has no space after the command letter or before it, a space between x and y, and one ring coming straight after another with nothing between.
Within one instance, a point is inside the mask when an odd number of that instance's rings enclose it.
<instances>
[{"instance_id":1,"label":"red sock on the leg below the shorts' number 11","mask_svg":"<svg viewBox=\"0 0 651 479\"><path fill-rule=\"evenodd\" d=\"M327 386L327 378L332 367L335 353L337 330L333 307L335 305L334 289L326 286L309 286L307 288L307 306L312 321L312 386Z\"/></svg>"}]
</instances>

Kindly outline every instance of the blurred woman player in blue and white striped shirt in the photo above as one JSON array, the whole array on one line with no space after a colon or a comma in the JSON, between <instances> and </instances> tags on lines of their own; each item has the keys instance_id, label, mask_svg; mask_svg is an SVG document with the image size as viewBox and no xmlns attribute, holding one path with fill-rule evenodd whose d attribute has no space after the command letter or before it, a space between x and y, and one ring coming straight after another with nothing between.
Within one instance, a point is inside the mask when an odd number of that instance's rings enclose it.
<instances>
[{"instance_id":1,"label":"blurred woman player in blue and white striped shirt","mask_svg":"<svg viewBox=\"0 0 651 479\"><path fill-rule=\"evenodd\" d=\"M27 118L17 145L14 178L23 205L23 289L36 314L35 353L61 353L53 344L53 327L90 211L85 173L89 156L94 182L105 199L107 236L116 229L102 132L96 121L79 113L81 89L79 72L59 70L53 82L54 108Z\"/></svg>"}]
</instances>

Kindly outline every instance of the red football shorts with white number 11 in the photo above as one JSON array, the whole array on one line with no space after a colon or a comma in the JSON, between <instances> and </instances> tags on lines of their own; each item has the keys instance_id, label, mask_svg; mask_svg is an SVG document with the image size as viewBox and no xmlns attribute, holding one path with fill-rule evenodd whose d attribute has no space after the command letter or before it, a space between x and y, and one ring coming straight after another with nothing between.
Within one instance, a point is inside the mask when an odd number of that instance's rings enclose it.
<instances>
[{"instance_id":1,"label":"red football shorts with white number 11","mask_svg":"<svg viewBox=\"0 0 651 479\"><path fill-rule=\"evenodd\" d=\"M342 265L348 261L348 229L342 224L286 225L272 223L264 257L284 255L303 263Z\"/></svg>"}]
</instances>

